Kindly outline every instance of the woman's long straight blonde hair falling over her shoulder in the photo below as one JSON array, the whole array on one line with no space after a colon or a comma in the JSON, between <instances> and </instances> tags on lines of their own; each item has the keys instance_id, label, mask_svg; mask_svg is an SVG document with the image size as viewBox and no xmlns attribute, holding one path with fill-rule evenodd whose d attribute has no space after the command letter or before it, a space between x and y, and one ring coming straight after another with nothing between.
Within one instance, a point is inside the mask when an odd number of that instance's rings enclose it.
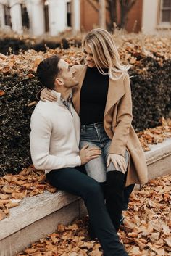
<instances>
[{"instance_id":1,"label":"woman's long straight blonde hair falling over her shoulder","mask_svg":"<svg viewBox=\"0 0 171 256\"><path fill-rule=\"evenodd\" d=\"M107 30L102 28L91 30L83 39L83 48L85 44L90 47L95 65L101 74L107 75L107 73L104 73L102 67L108 68L109 78L118 79L129 69L128 65L124 66L120 64L120 55L117 47ZM121 75L118 76L117 73L121 73Z\"/></svg>"}]
</instances>

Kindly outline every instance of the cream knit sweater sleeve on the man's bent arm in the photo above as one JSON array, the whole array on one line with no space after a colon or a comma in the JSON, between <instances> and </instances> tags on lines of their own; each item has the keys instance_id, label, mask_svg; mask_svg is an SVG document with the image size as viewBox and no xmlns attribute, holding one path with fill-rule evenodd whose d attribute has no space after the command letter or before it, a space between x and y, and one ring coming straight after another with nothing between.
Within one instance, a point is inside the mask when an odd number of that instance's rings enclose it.
<instances>
[{"instance_id":1,"label":"cream knit sweater sleeve on the man's bent arm","mask_svg":"<svg viewBox=\"0 0 171 256\"><path fill-rule=\"evenodd\" d=\"M54 170L81 165L79 156L58 157L49 154L52 127L40 113L33 113L30 126L30 152L36 169Z\"/></svg>"}]
</instances>

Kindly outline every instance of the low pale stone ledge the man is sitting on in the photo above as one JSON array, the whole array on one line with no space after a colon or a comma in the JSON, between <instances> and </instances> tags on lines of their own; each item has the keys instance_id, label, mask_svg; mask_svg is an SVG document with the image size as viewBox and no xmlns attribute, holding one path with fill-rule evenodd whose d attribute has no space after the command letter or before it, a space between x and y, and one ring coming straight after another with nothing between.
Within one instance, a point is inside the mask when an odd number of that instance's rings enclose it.
<instances>
[{"instance_id":1,"label":"low pale stone ledge the man is sitting on","mask_svg":"<svg viewBox=\"0 0 171 256\"><path fill-rule=\"evenodd\" d=\"M150 147L151 151L145 152L149 180L171 174L171 139ZM136 185L136 189L141 186ZM20 206L10 210L9 218L0 221L1 256L14 256L31 242L57 230L59 223L66 225L83 215L83 201L63 191L26 197Z\"/></svg>"}]
</instances>

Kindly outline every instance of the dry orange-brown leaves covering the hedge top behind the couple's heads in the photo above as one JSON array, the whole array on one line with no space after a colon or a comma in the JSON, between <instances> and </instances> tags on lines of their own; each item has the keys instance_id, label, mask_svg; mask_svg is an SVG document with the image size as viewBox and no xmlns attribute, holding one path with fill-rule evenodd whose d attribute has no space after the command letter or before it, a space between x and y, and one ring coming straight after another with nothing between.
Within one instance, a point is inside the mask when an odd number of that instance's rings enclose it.
<instances>
[{"instance_id":1,"label":"dry orange-brown leaves covering the hedge top behind the couple's heads","mask_svg":"<svg viewBox=\"0 0 171 256\"><path fill-rule=\"evenodd\" d=\"M161 38L159 36L145 36L143 34L113 36L120 53L120 58L125 64L129 63L136 66L144 57L152 57L162 66L164 60L171 57L170 37ZM4 74L18 73L20 75L27 73L28 78L31 78L41 60L54 54L62 56L70 65L83 64L85 62L81 47L70 47L69 49L46 48L46 52L37 52L30 49L28 51L20 51L20 54L17 55L9 54L5 56L0 53L0 72ZM146 73L147 68L143 67L139 70L139 73Z\"/></svg>"}]
</instances>

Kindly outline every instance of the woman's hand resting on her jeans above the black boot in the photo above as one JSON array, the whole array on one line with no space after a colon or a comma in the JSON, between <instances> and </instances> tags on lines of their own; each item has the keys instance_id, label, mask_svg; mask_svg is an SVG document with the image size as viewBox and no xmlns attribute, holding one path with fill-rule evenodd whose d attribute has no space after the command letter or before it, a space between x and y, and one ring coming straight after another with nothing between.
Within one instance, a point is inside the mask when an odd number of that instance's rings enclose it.
<instances>
[{"instance_id":1,"label":"woman's hand resting on her jeans above the black boot","mask_svg":"<svg viewBox=\"0 0 171 256\"><path fill-rule=\"evenodd\" d=\"M109 154L109 156L107 157L107 167L109 166L110 161L112 161L112 163L114 164L114 168L116 168L116 170L119 170L120 168L123 174L126 173L126 170L127 170L126 162L125 162L125 158L122 157L122 155Z\"/></svg>"}]
</instances>

